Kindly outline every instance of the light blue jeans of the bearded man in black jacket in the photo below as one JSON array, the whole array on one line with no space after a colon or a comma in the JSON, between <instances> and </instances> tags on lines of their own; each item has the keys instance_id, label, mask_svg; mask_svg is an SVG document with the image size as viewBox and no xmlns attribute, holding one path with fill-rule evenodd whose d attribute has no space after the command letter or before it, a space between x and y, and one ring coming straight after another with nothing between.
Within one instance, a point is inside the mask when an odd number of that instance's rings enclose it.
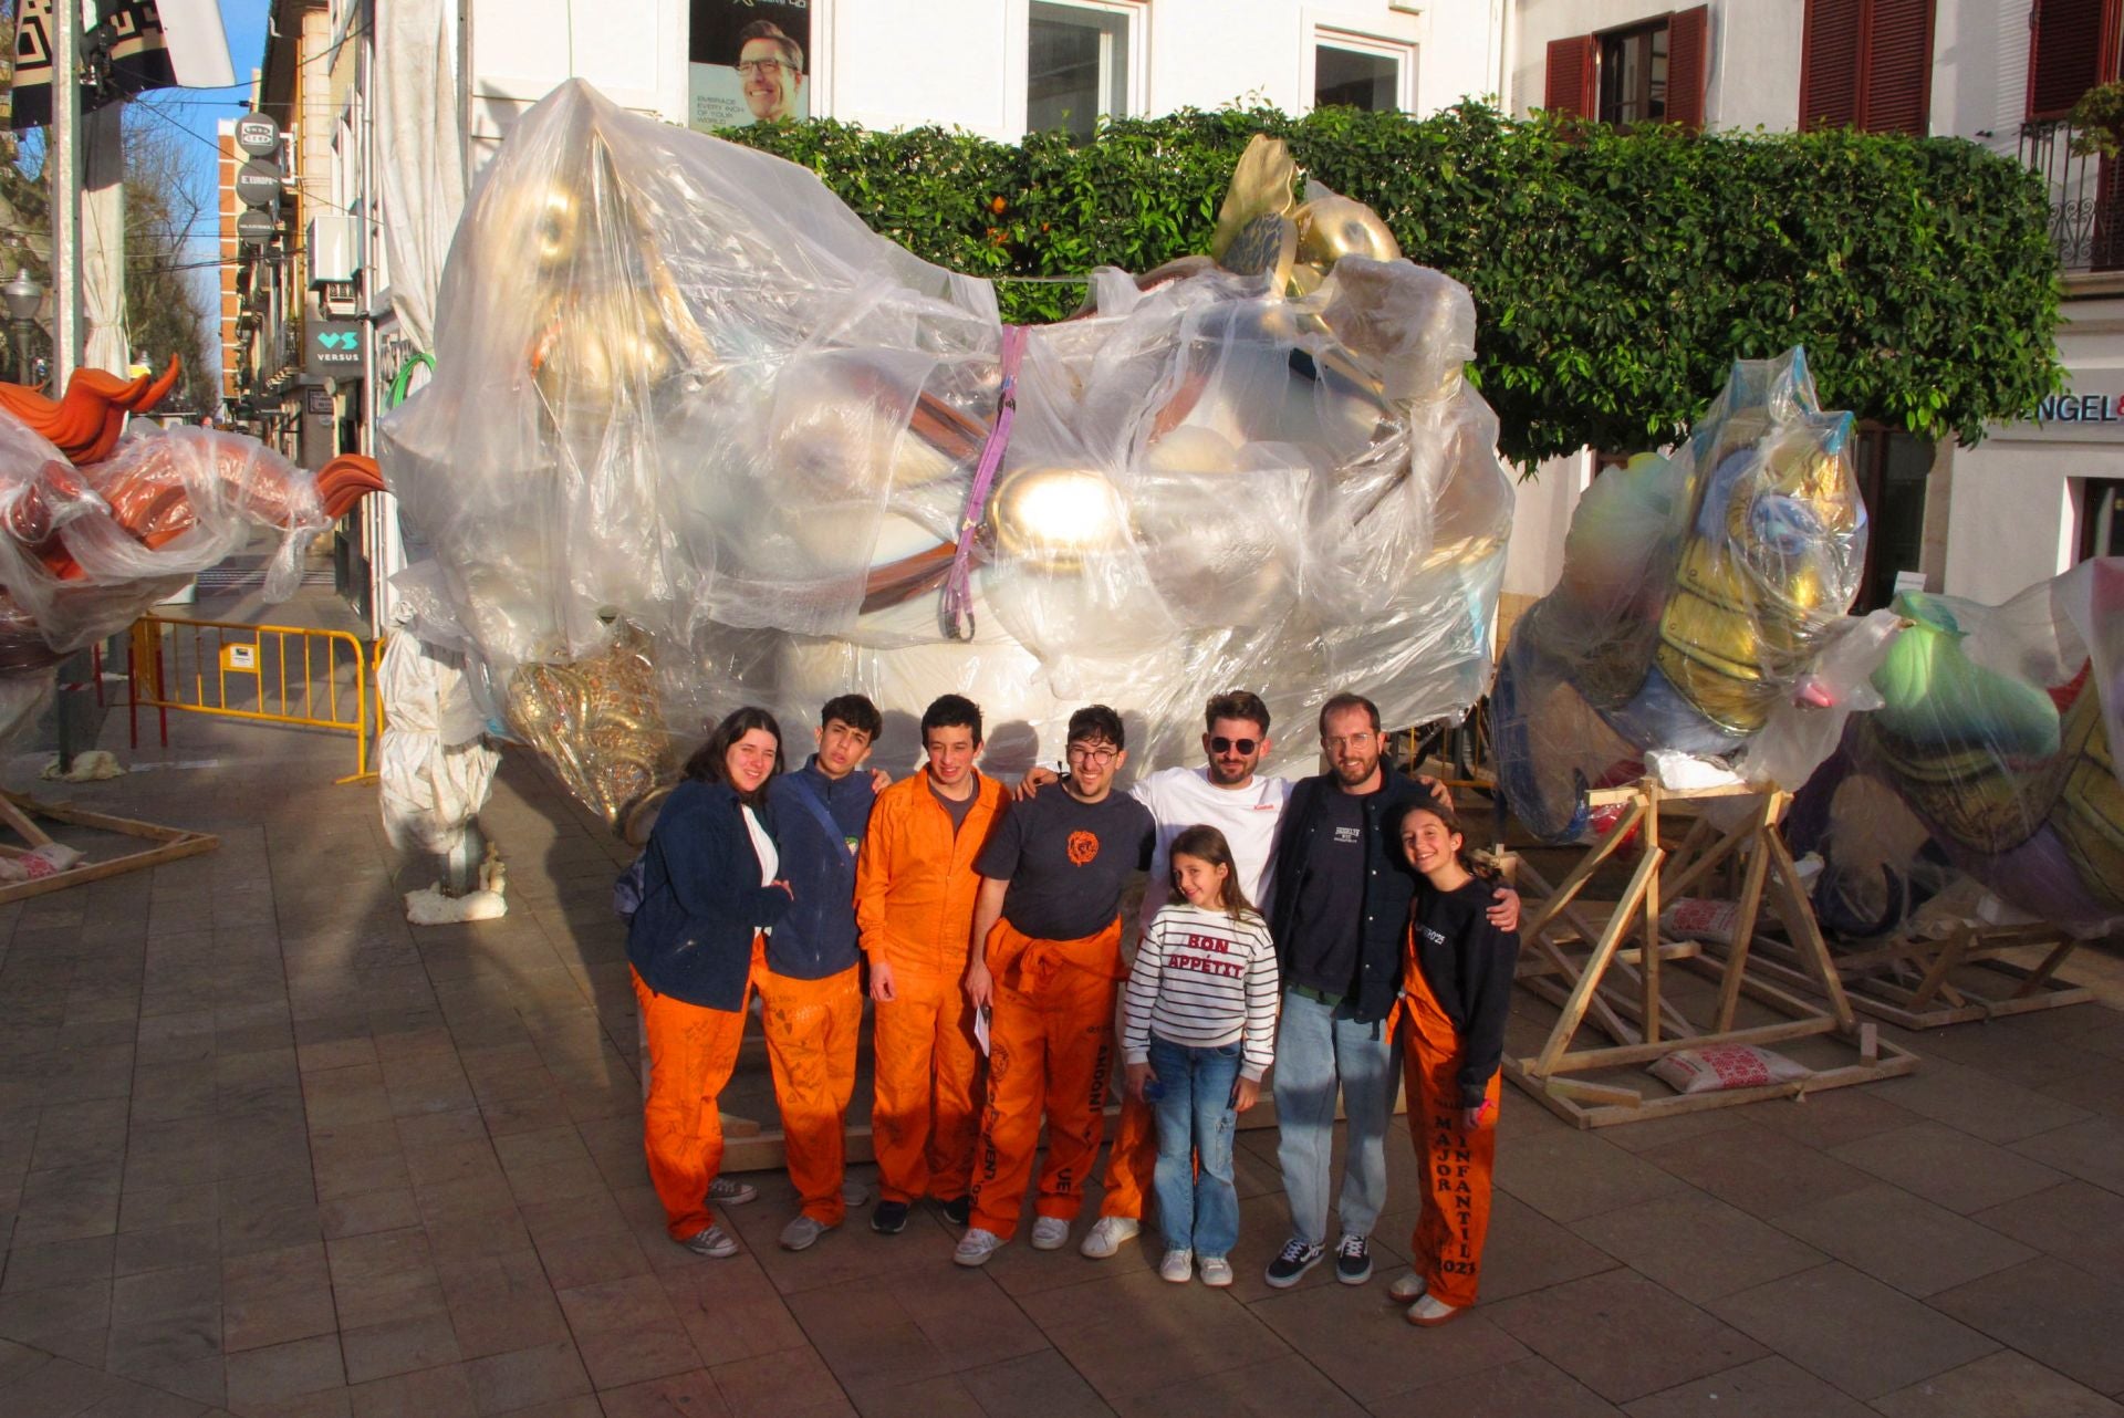
<instances>
[{"instance_id":1,"label":"light blue jeans of the bearded man in black jacket","mask_svg":"<svg viewBox=\"0 0 2124 1418\"><path fill-rule=\"evenodd\" d=\"M1342 1097L1349 1157L1338 1204L1344 1235L1372 1235L1387 1201L1387 1123L1393 1117L1393 1040L1381 1023L1351 1019L1349 1002L1325 1006L1283 991L1277 1023L1277 1163L1291 1204L1291 1235L1328 1244L1328 1172L1334 1104Z\"/></svg>"}]
</instances>

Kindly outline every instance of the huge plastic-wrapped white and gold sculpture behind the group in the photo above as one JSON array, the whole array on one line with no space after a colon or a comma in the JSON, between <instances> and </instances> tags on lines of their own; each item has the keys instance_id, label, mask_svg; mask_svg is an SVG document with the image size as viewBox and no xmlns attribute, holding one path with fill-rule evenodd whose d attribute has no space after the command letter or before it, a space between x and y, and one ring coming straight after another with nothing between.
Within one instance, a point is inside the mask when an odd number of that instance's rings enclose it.
<instances>
[{"instance_id":1,"label":"huge plastic-wrapped white and gold sculpture behind the group","mask_svg":"<svg viewBox=\"0 0 2124 1418\"><path fill-rule=\"evenodd\" d=\"M1281 144L1243 178L1217 253L1020 333L811 172L563 85L467 204L440 374L384 422L421 635L610 822L748 701L801 732L867 692L898 771L964 692L1005 773L1094 698L1138 768L1232 686L1287 762L1338 688L1463 709L1512 507L1472 299L1361 204L1298 202Z\"/></svg>"}]
</instances>

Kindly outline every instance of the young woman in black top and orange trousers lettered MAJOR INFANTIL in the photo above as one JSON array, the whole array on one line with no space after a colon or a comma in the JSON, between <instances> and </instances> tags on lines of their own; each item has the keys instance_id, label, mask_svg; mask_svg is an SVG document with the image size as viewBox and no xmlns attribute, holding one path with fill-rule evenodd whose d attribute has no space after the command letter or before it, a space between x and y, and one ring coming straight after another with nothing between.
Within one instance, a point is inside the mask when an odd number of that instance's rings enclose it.
<instances>
[{"instance_id":1,"label":"young woman in black top and orange trousers lettered MAJOR INFANTIL","mask_svg":"<svg viewBox=\"0 0 2124 1418\"><path fill-rule=\"evenodd\" d=\"M1493 883L1463 851L1453 807L1402 815L1402 851L1429 883L1417 892L1402 968L1402 1068L1408 1136L1423 1172L1415 1269L1393 1282L1412 1325L1444 1325L1474 1303L1497 1157L1497 1064L1519 962L1519 932L1485 919Z\"/></svg>"}]
</instances>

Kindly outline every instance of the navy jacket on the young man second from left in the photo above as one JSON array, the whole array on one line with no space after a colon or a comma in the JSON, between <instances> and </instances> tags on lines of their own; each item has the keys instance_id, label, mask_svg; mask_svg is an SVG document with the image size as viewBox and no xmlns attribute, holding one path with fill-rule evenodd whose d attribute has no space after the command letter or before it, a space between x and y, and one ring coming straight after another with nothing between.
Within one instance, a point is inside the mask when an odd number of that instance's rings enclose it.
<instances>
[{"instance_id":1,"label":"navy jacket on the young man second from left","mask_svg":"<svg viewBox=\"0 0 2124 1418\"><path fill-rule=\"evenodd\" d=\"M782 877L796 902L767 936L767 968L799 981L822 981L852 970L856 951L856 853L871 826L871 805L877 790L869 773L830 779L818 771L818 754L767 785L767 802L775 809L775 847L782 851ZM835 832L818 819L811 805L822 805Z\"/></svg>"}]
</instances>

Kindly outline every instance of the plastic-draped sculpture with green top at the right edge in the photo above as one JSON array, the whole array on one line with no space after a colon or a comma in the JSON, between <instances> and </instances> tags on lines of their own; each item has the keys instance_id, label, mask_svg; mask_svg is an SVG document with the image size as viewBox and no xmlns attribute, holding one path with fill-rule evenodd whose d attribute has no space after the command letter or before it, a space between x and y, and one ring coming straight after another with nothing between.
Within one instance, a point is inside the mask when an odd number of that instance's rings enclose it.
<instances>
[{"instance_id":1,"label":"plastic-draped sculpture with green top at the right edge","mask_svg":"<svg viewBox=\"0 0 2124 1418\"><path fill-rule=\"evenodd\" d=\"M2005 605L1905 592L1871 675L1880 709L1793 805L1786 836L1825 862L1822 923L1903 928L1958 879L2099 934L2124 917L2124 560Z\"/></svg>"}]
</instances>

